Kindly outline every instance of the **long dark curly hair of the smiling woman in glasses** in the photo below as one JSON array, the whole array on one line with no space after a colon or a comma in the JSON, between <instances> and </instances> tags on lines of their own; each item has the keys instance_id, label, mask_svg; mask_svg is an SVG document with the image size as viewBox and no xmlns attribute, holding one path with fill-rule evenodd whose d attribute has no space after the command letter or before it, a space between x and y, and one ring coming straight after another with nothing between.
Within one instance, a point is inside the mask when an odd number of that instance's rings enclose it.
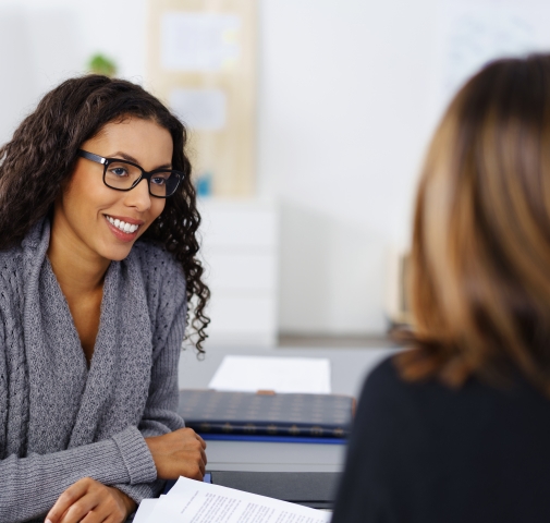
<instances>
[{"instance_id":1,"label":"long dark curly hair of the smiling woman in glasses","mask_svg":"<svg viewBox=\"0 0 550 523\"><path fill-rule=\"evenodd\" d=\"M197 259L200 216L185 156L187 133L183 124L143 87L124 80L90 74L63 82L48 93L23 120L11 142L0 147L0 250L21 243L28 230L49 215L72 175L77 150L113 121L135 117L151 120L170 132L172 167L185 173L176 194L167 199L160 217L142 239L158 242L173 254L185 273L186 339L204 353L205 306L210 291ZM193 320L190 323L190 309Z\"/></svg>"}]
</instances>

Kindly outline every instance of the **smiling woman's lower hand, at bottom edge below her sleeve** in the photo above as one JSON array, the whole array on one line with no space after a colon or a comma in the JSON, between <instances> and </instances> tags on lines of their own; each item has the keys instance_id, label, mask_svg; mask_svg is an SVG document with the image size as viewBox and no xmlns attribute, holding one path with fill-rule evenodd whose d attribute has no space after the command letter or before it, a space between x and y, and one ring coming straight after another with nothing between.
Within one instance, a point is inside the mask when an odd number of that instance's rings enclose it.
<instances>
[{"instance_id":1,"label":"smiling woman's lower hand, at bottom edge below her sleeve","mask_svg":"<svg viewBox=\"0 0 550 523\"><path fill-rule=\"evenodd\" d=\"M84 477L59 497L46 523L121 523L135 509L135 501L124 492Z\"/></svg>"}]
</instances>

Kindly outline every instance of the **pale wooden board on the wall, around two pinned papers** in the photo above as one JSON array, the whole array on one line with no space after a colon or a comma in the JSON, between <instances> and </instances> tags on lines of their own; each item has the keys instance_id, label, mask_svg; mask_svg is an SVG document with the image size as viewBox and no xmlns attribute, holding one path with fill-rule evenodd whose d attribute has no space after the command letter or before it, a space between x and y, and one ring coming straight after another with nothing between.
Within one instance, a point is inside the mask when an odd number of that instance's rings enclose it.
<instances>
[{"instance_id":1,"label":"pale wooden board on the wall, around two pinned papers","mask_svg":"<svg viewBox=\"0 0 550 523\"><path fill-rule=\"evenodd\" d=\"M236 60L218 70L169 70L162 65L161 24L174 13L230 14ZM222 129L191 129L194 175L211 177L216 196L252 196L255 192L256 0L148 0L147 87L170 105L174 89L216 89L225 100ZM166 27L166 26L164 26ZM185 120L185 118L184 118Z\"/></svg>"}]
</instances>

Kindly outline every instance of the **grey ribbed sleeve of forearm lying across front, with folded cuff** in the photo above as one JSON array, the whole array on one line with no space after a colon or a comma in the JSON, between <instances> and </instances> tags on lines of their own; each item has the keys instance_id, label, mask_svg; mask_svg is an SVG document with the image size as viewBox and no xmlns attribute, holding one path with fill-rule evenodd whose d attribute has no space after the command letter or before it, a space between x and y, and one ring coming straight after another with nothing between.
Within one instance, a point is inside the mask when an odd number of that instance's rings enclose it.
<instances>
[{"instance_id":1,"label":"grey ribbed sleeve of forearm lying across front, with folded cuff","mask_svg":"<svg viewBox=\"0 0 550 523\"><path fill-rule=\"evenodd\" d=\"M149 457L148 460L144 460ZM110 439L51 454L0 460L0 521L45 515L59 496L83 477L105 485L140 485L157 475L147 445L135 427Z\"/></svg>"}]
</instances>

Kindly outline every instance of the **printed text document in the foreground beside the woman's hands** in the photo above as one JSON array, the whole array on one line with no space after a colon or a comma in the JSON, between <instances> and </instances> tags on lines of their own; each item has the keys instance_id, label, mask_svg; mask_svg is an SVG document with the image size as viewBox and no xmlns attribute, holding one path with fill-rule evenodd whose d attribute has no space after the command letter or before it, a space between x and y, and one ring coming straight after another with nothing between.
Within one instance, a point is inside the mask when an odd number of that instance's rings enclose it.
<instances>
[{"instance_id":1,"label":"printed text document in the foreground beside the woman's hands","mask_svg":"<svg viewBox=\"0 0 550 523\"><path fill-rule=\"evenodd\" d=\"M136 518L140 514L140 507ZM180 477L144 523L329 523L331 514ZM142 521L142 520L139 520Z\"/></svg>"}]
</instances>

